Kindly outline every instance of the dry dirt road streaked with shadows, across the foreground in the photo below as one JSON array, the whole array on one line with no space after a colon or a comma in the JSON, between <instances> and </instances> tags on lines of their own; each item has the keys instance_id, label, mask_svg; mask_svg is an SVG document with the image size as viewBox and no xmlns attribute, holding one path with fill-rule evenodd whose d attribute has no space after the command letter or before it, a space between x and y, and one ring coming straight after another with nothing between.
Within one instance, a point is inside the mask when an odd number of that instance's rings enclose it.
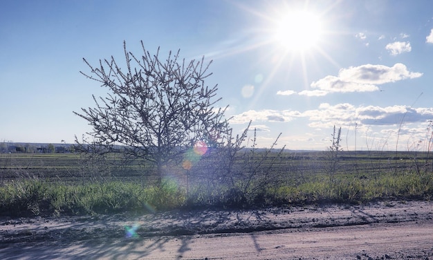
<instances>
[{"instance_id":1,"label":"dry dirt road streaked with shadows, across the foreground","mask_svg":"<svg viewBox=\"0 0 433 260\"><path fill-rule=\"evenodd\" d=\"M433 202L3 216L0 259L433 259Z\"/></svg>"}]
</instances>

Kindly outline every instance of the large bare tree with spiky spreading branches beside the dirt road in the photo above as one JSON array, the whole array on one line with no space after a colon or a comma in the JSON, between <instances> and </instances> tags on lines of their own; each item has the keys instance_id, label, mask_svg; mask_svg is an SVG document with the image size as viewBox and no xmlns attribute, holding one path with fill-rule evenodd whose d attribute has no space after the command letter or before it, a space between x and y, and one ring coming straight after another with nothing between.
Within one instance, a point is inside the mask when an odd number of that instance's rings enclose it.
<instances>
[{"instance_id":1,"label":"large bare tree with spiky spreading branches beside the dirt road","mask_svg":"<svg viewBox=\"0 0 433 260\"><path fill-rule=\"evenodd\" d=\"M208 73L211 62L204 64L204 57L185 62L178 50L160 59L159 48L151 55L142 41L139 57L127 51L125 41L123 45L123 70L114 57L100 60L98 67L84 59L91 73L80 73L109 92L106 97L93 95L95 107L74 113L93 127L89 135L104 147L100 151L122 145L128 156L155 163L160 183L163 166L181 158L196 142L208 146L223 142L229 129L224 118L227 106L214 107L221 98L216 98L217 86L205 86L212 73Z\"/></svg>"}]
</instances>

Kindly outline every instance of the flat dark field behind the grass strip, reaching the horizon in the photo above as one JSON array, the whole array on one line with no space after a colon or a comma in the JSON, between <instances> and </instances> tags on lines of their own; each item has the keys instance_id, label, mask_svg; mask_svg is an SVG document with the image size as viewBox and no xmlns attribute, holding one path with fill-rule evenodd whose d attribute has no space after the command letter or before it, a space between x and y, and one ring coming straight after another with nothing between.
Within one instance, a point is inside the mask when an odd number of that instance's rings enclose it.
<instances>
[{"instance_id":1,"label":"flat dark field behind the grass strip, reaching the horizon","mask_svg":"<svg viewBox=\"0 0 433 260\"><path fill-rule=\"evenodd\" d=\"M268 161L273 158L272 156L273 154L268 156ZM323 151L285 151L281 158L273 163L271 170L284 172L288 179L300 176L308 178L325 174L326 160L328 158ZM432 160L432 154L425 152L342 151L335 174L368 177L391 171L432 172ZM83 160L79 154L0 154L0 180L4 182L23 177L74 180L95 174L95 171L118 180L149 178L154 174L154 169L149 163L136 161L121 167L119 164L116 156L111 156L104 162L91 162ZM172 169L183 171L179 165L173 165Z\"/></svg>"}]
</instances>

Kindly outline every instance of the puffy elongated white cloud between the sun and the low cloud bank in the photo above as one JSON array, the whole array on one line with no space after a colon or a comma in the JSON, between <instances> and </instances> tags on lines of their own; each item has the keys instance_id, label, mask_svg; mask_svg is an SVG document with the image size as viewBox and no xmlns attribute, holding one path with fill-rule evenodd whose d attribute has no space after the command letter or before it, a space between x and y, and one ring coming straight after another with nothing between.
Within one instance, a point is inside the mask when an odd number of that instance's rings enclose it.
<instances>
[{"instance_id":1,"label":"puffy elongated white cloud between the sun and the low cloud bank","mask_svg":"<svg viewBox=\"0 0 433 260\"><path fill-rule=\"evenodd\" d=\"M404 64L397 63L392 67L366 64L358 67L340 69L338 76L326 76L311 87L317 90L302 91L300 95L326 95L334 92L367 92L378 91L377 84L421 77L423 73L407 70Z\"/></svg>"}]
</instances>

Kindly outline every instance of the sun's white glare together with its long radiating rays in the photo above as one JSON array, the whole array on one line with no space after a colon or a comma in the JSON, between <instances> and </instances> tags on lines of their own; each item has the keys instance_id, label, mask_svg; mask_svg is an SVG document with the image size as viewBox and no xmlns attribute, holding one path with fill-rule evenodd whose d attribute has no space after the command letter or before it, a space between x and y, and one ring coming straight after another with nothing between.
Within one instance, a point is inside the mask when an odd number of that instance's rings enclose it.
<instances>
[{"instance_id":1,"label":"sun's white glare together with its long radiating rays","mask_svg":"<svg viewBox=\"0 0 433 260\"><path fill-rule=\"evenodd\" d=\"M318 60L324 58L336 68L340 68L340 65L326 53L325 48L326 44L331 41L326 37L338 33L329 30L328 19L326 19L326 15L337 4L338 0L326 6L314 6L311 1L304 1L297 5L287 2L275 5L266 2L264 6L253 9L250 5L235 2L234 6L257 17L257 21L260 22L244 30L236 39L226 41L220 45L220 48L205 56L211 59L221 59L251 51L259 53L257 64L271 64L270 71L251 96L248 104L250 108L261 100L262 95L273 84L273 80L284 71L290 75L293 69L299 68L303 77L302 87L309 89L313 81L308 71L311 62L318 64Z\"/></svg>"}]
</instances>

